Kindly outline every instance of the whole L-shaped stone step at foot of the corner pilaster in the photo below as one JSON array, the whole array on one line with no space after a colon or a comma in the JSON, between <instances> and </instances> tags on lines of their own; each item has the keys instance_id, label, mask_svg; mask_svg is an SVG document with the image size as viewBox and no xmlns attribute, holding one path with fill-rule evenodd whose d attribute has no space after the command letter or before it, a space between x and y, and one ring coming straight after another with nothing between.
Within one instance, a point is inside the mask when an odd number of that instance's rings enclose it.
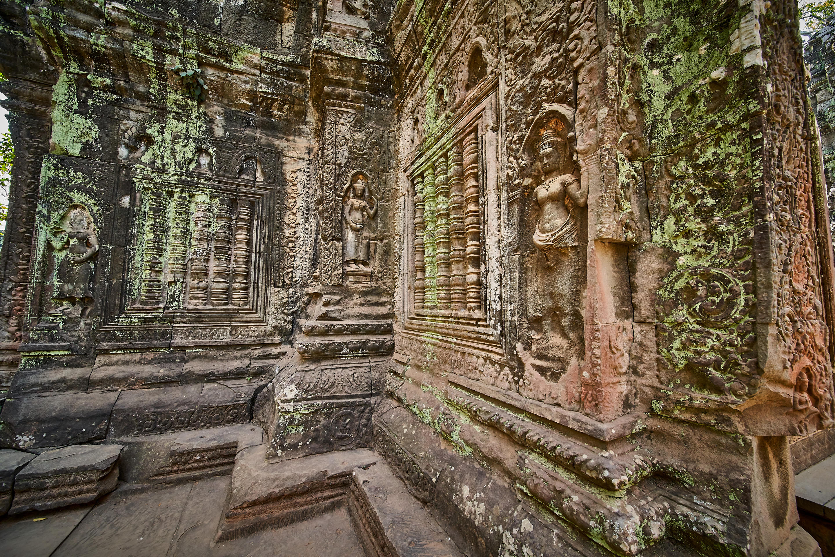
<instances>
[{"instance_id":1,"label":"whole L-shaped stone step at foot of the corner pilaster","mask_svg":"<svg viewBox=\"0 0 835 557\"><path fill-rule=\"evenodd\" d=\"M369 557L463 557L446 532L370 448L266 461L266 444L235 459L215 543L347 508Z\"/></svg>"}]
</instances>

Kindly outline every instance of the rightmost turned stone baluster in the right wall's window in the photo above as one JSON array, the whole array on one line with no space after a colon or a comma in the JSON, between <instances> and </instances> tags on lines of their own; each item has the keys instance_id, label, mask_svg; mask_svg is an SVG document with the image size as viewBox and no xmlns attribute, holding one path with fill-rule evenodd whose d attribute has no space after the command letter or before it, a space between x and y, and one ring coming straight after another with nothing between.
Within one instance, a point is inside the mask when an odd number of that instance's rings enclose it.
<instances>
[{"instance_id":1,"label":"rightmost turned stone baluster in the right wall's window","mask_svg":"<svg viewBox=\"0 0 835 557\"><path fill-rule=\"evenodd\" d=\"M478 135L464 139L464 232L467 235L467 311L481 309L481 209L478 206Z\"/></svg>"}]
</instances>

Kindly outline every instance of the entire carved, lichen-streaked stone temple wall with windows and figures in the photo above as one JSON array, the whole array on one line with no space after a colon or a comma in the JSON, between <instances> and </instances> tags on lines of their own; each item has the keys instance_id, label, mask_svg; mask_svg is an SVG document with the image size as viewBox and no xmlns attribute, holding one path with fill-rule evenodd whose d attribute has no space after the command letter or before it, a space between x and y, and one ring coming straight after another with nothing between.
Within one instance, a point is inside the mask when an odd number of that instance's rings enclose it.
<instances>
[{"instance_id":1,"label":"entire carved, lichen-streaked stone temple wall with windows and figures","mask_svg":"<svg viewBox=\"0 0 835 557\"><path fill-rule=\"evenodd\" d=\"M785 549L835 418L795 3L0 16L3 446L252 420L468 554Z\"/></svg>"}]
</instances>

